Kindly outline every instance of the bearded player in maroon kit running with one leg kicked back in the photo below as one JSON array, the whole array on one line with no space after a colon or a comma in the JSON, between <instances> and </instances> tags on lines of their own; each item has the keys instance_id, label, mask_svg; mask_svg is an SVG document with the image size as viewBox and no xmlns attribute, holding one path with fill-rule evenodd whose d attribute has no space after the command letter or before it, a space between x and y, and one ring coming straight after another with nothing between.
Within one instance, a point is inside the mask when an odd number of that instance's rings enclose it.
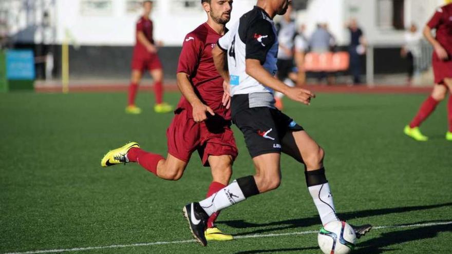
<instances>
[{"instance_id":1,"label":"bearded player in maroon kit running with one leg kicked back","mask_svg":"<svg viewBox=\"0 0 452 254\"><path fill-rule=\"evenodd\" d=\"M208 21L187 34L177 69L177 84L182 92L175 116L166 131L168 154L161 155L140 149L136 142L109 151L101 161L103 167L136 162L165 180L179 180L197 150L203 166L212 169L213 181L206 197L229 184L237 147L231 130L229 97L223 100L223 79L216 70L212 49L225 33L232 0L201 0ZM205 236L208 240L232 240L209 218Z\"/></svg>"}]
</instances>

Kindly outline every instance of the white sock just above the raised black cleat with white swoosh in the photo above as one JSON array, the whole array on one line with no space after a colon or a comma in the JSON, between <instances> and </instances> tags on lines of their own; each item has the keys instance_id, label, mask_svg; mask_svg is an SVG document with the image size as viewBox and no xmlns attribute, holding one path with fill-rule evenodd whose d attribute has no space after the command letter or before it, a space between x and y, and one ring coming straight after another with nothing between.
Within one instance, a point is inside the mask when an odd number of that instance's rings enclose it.
<instances>
[{"instance_id":1,"label":"white sock just above the raised black cleat with white swoosh","mask_svg":"<svg viewBox=\"0 0 452 254\"><path fill-rule=\"evenodd\" d=\"M238 186L237 181L234 180L230 185L214 193L209 198L200 201L199 204L205 212L211 216L212 213L243 200L245 200L245 196L243 195L240 186Z\"/></svg>"}]
</instances>

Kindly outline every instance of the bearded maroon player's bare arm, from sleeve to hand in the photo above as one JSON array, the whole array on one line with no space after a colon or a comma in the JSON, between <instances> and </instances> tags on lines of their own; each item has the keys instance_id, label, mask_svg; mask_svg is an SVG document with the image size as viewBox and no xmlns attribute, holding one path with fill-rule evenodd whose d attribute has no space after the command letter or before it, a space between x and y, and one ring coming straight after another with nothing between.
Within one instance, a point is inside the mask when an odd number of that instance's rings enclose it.
<instances>
[{"instance_id":1,"label":"bearded maroon player's bare arm, from sleeve to hand","mask_svg":"<svg viewBox=\"0 0 452 254\"><path fill-rule=\"evenodd\" d=\"M196 95L193 89L192 83L190 82L190 76L184 72L178 72L177 75L177 86L179 87L182 95L189 101L193 108L193 120L199 123L207 119L206 113L215 115L214 111L209 107L204 105L201 100L199 100L198 95Z\"/></svg>"}]
</instances>

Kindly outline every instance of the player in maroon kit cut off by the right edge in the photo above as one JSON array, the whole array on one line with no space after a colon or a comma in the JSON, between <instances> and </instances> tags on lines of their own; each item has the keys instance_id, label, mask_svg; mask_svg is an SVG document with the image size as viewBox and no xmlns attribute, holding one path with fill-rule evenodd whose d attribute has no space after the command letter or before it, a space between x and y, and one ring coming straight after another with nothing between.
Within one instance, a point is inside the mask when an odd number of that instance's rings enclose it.
<instances>
[{"instance_id":1,"label":"player in maroon kit cut off by the right edge","mask_svg":"<svg viewBox=\"0 0 452 254\"><path fill-rule=\"evenodd\" d=\"M436 29L436 38L430 32L432 29ZM405 126L404 132L417 141L427 141L428 137L421 133L419 126L449 92L447 102L449 129L446 132L446 140L452 141L452 3L437 9L424 28L424 36L435 49L432 58L435 86L427 100L422 103L415 118Z\"/></svg>"}]
</instances>

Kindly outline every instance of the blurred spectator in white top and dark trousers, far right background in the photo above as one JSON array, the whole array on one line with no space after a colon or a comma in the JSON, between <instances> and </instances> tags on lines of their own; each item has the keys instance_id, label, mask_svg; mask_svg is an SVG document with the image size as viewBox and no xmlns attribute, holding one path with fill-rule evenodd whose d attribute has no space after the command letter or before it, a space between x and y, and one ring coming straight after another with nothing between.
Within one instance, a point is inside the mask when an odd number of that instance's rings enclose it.
<instances>
[{"instance_id":1,"label":"blurred spectator in white top and dark trousers, far right background","mask_svg":"<svg viewBox=\"0 0 452 254\"><path fill-rule=\"evenodd\" d=\"M406 58L407 62L408 85L411 85L415 72L415 59L421 55L421 39L422 35L418 32L418 27L411 24L405 33L405 45L400 51L401 56Z\"/></svg>"}]
</instances>

